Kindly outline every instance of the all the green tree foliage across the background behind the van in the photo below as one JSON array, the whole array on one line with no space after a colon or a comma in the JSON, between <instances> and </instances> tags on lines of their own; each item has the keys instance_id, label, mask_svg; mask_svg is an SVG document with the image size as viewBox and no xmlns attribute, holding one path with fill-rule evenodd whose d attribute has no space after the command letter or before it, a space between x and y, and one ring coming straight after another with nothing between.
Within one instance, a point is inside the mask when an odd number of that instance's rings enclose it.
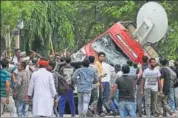
<instances>
[{"instance_id":1,"label":"all the green tree foliage across the background behind the van","mask_svg":"<svg viewBox=\"0 0 178 118\"><path fill-rule=\"evenodd\" d=\"M144 1L3 1L1 4L1 35L16 28L21 30L22 50L49 54L65 48L77 50L118 21L135 21ZM160 1L168 13L169 33L157 44L168 58L178 54L178 2Z\"/></svg>"}]
</instances>

